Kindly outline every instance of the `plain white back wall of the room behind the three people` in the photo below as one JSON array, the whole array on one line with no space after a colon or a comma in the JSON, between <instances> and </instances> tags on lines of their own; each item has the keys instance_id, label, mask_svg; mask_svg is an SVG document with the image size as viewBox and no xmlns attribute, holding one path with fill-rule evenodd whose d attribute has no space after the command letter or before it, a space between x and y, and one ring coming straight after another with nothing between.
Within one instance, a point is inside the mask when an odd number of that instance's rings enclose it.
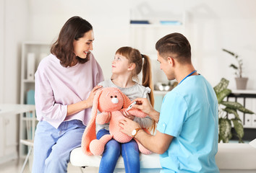
<instances>
[{"instance_id":1,"label":"plain white back wall of the room behind the three people","mask_svg":"<svg viewBox=\"0 0 256 173\"><path fill-rule=\"evenodd\" d=\"M186 10L189 14L186 36L192 45L193 62L197 71L212 85L225 77L230 80L230 87L234 89L234 71L229 68L234 58L221 50L226 48L244 58L244 76L249 77L248 89L256 89L254 0L0 1L3 9L0 9L0 23L4 24L4 27L0 27L0 36L4 37L0 41L0 50L3 50L0 53L0 72L4 71L0 74L0 102L19 100L21 42L33 40L52 43L64 22L74 15L87 19L93 25L93 53L108 79L116 49L130 45L130 9L138 6L149 6L158 17ZM148 44L152 44L150 46L154 48L155 43Z\"/></svg>"}]
</instances>

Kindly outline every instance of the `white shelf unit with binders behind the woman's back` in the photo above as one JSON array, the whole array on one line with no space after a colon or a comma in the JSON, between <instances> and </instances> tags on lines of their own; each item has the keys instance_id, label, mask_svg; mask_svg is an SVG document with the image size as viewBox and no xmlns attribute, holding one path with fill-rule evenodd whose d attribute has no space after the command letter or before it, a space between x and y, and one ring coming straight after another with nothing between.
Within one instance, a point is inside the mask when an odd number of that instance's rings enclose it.
<instances>
[{"instance_id":1,"label":"white shelf unit with binders behind the woman's back","mask_svg":"<svg viewBox=\"0 0 256 173\"><path fill-rule=\"evenodd\" d=\"M22 43L22 64L21 64L21 84L20 84L20 104L31 104L34 102L34 95L27 98L27 92L35 91L34 74L40 60L50 53L50 44L42 42L27 41ZM31 55L33 61L31 61ZM28 58L30 56L30 58ZM28 72L33 74L28 76ZM32 100L32 101L31 101ZM20 157L24 158L28 147L24 141L33 141L35 127L38 121L35 113L27 112L20 114Z\"/></svg>"}]
</instances>

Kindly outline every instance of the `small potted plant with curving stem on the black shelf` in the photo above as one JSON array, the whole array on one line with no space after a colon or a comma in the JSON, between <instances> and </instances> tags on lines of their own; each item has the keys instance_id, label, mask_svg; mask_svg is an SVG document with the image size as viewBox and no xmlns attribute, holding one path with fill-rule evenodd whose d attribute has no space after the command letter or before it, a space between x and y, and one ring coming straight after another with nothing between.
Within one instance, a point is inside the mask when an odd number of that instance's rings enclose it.
<instances>
[{"instance_id":1,"label":"small potted plant with curving stem on the black shelf","mask_svg":"<svg viewBox=\"0 0 256 173\"><path fill-rule=\"evenodd\" d=\"M236 89L246 89L248 78L243 77L243 61L236 53L233 53L229 50L222 49L224 52L229 53L236 59L237 65L231 63L229 67L234 68L236 74Z\"/></svg>"}]
</instances>

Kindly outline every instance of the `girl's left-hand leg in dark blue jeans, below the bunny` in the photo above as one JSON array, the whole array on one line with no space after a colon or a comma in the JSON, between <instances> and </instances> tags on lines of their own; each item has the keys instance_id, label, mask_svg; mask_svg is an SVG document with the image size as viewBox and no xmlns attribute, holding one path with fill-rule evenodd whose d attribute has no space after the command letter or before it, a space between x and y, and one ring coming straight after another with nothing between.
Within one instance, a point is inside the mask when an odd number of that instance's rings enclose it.
<instances>
[{"instance_id":1,"label":"girl's left-hand leg in dark blue jeans, below the bunny","mask_svg":"<svg viewBox=\"0 0 256 173\"><path fill-rule=\"evenodd\" d=\"M101 138L104 135L108 135L109 131L101 129L97 133L97 138ZM111 139L106 143L105 150L101 158L101 164L99 167L99 173L114 172L116 162L119 159L121 153L121 144L114 139Z\"/></svg>"}]
</instances>

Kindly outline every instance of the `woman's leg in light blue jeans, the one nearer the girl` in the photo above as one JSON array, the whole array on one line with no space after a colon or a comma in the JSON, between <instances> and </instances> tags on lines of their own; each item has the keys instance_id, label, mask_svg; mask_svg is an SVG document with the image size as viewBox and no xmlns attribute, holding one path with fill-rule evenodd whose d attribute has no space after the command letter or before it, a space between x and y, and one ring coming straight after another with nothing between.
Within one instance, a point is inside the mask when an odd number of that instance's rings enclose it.
<instances>
[{"instance_id":1,"label":"woman's leg in light blue jeans, the one nearer the girl","mask_svg":"<svg viewBox=\"0 0 256 173\"><path fill-rule=\"evenodd\" d=\"M58 130L59 134L56 134L58 141L46 159L45 172L67 172L70 152L81 146L85 125L80 120L65 121Z\"/></svg>"}]
</instances>

